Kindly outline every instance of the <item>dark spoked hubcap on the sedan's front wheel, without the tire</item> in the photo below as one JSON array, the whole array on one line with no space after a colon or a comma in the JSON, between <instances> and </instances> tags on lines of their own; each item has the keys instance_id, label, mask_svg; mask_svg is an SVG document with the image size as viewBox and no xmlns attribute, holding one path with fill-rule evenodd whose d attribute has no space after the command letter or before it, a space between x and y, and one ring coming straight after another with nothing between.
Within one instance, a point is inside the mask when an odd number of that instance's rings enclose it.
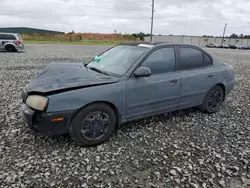
<instances>
[{"instance_id":1,"label":"dark spoked hubcap on the sedan's front wheel, without the tire","mask_svg":"<svg viewBox=\"0 0 250 188\"><path fill-rule=\"evenodd\" d=\"M95 141L101 139L110 124L109 116L103 112L93 112L86 116L81 123L81 134L84 139Z\"/></svg>"}]
</instances>

